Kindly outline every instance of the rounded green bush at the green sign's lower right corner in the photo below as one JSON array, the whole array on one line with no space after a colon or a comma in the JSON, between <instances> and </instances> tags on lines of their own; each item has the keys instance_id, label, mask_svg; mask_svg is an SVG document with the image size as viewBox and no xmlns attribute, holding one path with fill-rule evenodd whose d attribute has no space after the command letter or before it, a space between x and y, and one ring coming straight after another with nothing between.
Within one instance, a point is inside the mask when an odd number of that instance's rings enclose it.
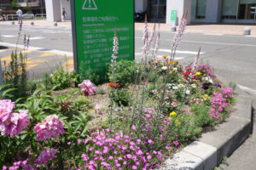
<instances>
[{"instance_id":1,"label":"rounded green bush at the green sign's lower right corner","mask_svg":"<svg viewBox=\"0 0 256 170\"><path fill-rule=\"evenodd\" d=\"M137 82L137 69L139 65L135 61L120 60L115 65L115 71L108 70L110 82L116 82L121 86L127 86Z\"/></svg>"}]
</instances>

